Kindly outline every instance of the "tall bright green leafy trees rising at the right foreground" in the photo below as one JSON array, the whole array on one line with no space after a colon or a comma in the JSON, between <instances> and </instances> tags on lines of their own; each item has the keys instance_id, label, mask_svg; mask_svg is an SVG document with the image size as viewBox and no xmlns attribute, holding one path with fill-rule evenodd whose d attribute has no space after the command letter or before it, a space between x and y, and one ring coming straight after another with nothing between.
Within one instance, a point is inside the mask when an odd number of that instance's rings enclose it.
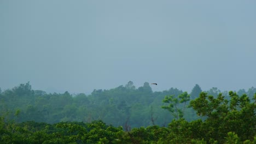
<instances>
[{"instance_id":1,"label":"tall bright green leafy trees rising at the right foreground","mask_svg":"<svg viewBox=\"0 0 256 144\"><path fill-rule=\"evenodd\" d=\"M242 141L252 140L255 136L255 101L251 103L246 94L239 97L232 91L229 92L229 96L228 101L224 99L222 93L217 98L213 98L202 92L199 98L190 102L197 115L206 117L204 126L205 129L210 129L205 131L206 141L212 138L223 143L222 137L226 137L230 131L237 134ZM235 137L231 133L228 136L229 139Z\"/></svg>"}]
</instances>

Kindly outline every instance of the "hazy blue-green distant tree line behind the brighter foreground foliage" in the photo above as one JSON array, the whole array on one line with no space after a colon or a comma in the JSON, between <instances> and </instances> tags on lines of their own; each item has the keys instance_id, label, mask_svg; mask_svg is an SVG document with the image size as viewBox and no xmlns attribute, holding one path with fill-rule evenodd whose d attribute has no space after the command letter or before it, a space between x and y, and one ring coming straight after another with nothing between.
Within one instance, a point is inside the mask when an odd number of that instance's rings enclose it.
<instances>
[{"instance_id":1,"label":"hazy blue-green distant tree line behind the brighter foreground foliage","mask_svg":"<svg viewBox=\"0 0 256 144\"><path fill-rule=\"evenodd\" d=\"M199 117L191 107L188 107L188 104L190 99L198 98L201 92L199 85L195 85L190 94L177 88L153 92L148 82L136 88L133 82L129 81L125 86L104 90L95 89L89 95L84 93L71 95L68 92L46 93L33 90L27 82L18 87L0 91L0 107L5 118L14 119L18 123L26 121L50 124L90 123L102 120L115 127L120 125L129 125L131 128L149 125L167 126L167 123L174 118L185 118L187 121L198 119ZM206 93L214 98L217 98L220 93L229 95L228 92L221 92L215 87ZM245 89L237 91L238 95L246 94L249 99L253 98L254 93L256 93L254 87L249 88L248 91ZM178 98L182 97L179 96L182 94L183 98ZM184 95L187 95L187 98ZM174 110L172 105L177 109Z\"/></svg>"}]
</instances>

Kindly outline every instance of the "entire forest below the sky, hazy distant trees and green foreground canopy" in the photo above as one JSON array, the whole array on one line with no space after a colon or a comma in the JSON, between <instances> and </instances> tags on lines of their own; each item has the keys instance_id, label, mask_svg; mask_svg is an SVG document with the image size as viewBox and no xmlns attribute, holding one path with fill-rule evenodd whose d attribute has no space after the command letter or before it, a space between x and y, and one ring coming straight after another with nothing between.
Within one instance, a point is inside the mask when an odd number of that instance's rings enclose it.
<instances>
[{"instance_id":1,"label":"entire forest below the sky, hazy distant trees and green foreground canopy","mask_svg":"<svg viewBox=\"0 0 256 144\"><path fill-rule=\"evenodd\" d=\"M256 143L256 88L153 92L132 81L91 94L1 91L3 143Z\"/></svg>"}]
</instances>

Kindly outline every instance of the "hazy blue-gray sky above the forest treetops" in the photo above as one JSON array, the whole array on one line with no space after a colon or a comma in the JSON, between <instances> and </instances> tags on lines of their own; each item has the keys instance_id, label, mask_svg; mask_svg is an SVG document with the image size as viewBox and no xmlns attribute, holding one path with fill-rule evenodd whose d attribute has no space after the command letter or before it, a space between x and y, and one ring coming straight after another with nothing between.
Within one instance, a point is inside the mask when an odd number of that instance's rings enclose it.
<instances>
[{"instance_id":1,"label":"hazy blue-gray sky above the forest treetops","mask_svg":"<svg viewBox=\"0 0 256 144\"><path fill-rule=\"evenodd\" d=\"M256 1L0 1L0 87L256 86Z\"/></svg>"}]
</instances>

